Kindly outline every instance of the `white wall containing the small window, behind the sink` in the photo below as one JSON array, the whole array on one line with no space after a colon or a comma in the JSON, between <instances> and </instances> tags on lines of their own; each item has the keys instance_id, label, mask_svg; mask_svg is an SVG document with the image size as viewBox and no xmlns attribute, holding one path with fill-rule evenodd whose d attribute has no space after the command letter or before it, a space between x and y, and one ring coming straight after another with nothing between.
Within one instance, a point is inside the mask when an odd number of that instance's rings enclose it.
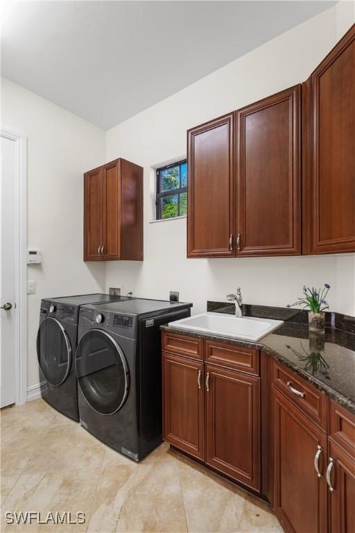
<instances>
[{"instance_id":1,"label":"white wall containing the small window, behind the sink","mask_svg":"<svg viewBox=\"0 0 355 533\"><path fill-rule=\"evenodd\" d=\"M338 3L304 24L107 131L107 160L119 155L144 167L144 262L107 263L106 286L192 301L225 300L237 285L245 303L293 303L306 285L331 286L331 309L355 314L355 255L186 259L186 219L154 218L152 167L186 155L186 130L304 81L354 23L354 3ZM173 65L166 75L173 76ZM144 80L142 80L144 90Z\"/></svg>"}]
</instances>

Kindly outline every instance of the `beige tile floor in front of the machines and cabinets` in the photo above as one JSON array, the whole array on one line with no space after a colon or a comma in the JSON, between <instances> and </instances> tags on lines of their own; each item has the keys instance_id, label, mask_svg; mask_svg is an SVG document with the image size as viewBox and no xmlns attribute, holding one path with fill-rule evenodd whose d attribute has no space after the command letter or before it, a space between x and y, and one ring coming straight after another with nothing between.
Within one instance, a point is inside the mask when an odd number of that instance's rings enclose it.
<instances>
[{"instance_id":1,"label":"beige tile floor in front of the machines and cabinets","mask_svg":"<svg viewBox=\"0 0 355 533\"><path fill-rule=\"evenodd\" d=\"M76 511L83 525L8 525L6 511ZM1 410L2 532L281 533L268 505L164 443L135 464L43 400Z\"/></svg>"}]
</instances>

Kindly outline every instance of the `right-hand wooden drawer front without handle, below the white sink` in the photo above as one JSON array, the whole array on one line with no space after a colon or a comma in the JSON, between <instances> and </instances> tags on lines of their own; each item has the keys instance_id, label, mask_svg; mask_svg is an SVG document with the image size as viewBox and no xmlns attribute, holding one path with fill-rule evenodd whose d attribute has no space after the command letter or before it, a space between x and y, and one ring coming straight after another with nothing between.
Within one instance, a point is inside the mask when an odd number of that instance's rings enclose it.
<instances>
[{"instance_id":1,"label":"right-hand wooden drawer front without handle, below the white sink","mask_svg":"<svg viewBox=\"0 0 355 533\"><path fill-rule=\"evenodd\" d=\"M205 360L207 363L215 364L216 366L259 375L259 358L259 350L254 348L205 341Z\"/></svg>"}]
</instances>

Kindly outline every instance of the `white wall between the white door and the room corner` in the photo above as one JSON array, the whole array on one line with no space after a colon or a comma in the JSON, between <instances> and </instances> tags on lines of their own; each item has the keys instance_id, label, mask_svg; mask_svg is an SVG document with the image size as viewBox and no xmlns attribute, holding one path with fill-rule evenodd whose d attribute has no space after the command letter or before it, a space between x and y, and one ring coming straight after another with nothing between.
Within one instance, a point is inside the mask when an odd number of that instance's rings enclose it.
<instances>
[{"instance_id":1,"label":"white wall between the white door and the room corner","mask_svg":"<svg viewBox=\"0 0 355 533\"><path fill-rule=\"evenodd\" d=\"M28 246L43 264L28 267L28 387L39 382L35 339L40 300L105 289L105 266L83 262L83 171L105 162L105 133L58 105L1 80L1 127L27 135Z\"/></svg>"}]
</instances>

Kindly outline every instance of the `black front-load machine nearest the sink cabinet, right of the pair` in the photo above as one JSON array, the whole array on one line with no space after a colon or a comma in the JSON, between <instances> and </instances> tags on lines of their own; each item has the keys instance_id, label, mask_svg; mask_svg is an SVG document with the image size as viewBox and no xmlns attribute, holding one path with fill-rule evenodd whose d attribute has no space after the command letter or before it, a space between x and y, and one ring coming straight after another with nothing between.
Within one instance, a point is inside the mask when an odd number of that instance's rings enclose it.
<instances>
[{"instance_id":1,"label":"black front-load machine nearest the sink cabinet, right of the pair","mask_svg":"<svg viewBox=\"0 0 355 533\"><path fill-rule=\"evenodd\" d=\"M80 423L135 461L162 442L162 335L191 303L136 298L80 309L76 375Z\"/></svg>"}]
</instances>

